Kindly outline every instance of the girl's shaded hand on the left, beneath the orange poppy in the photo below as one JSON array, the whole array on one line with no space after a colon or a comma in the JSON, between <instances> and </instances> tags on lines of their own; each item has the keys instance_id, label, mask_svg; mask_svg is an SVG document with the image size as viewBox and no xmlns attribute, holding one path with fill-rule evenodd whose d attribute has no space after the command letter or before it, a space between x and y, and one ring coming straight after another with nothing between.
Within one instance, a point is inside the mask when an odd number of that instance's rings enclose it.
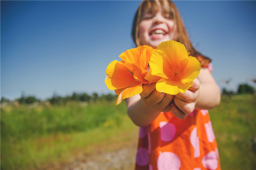
<instances>
[{"instance_id":1,"label":"girl's shaded hand on the left, beneath the orange poppy","mask_svg":"<svg viewBox=\"0 0 256 170\"><path fill-rule=\"evenodd\" d=\"M140 93L140 97L147 107L159 112L171 111L170 103L172 102L174 95L156 91L155 83L147 85L143 84L142 88L143 91Z\"/></svg>"}]
</instances>

